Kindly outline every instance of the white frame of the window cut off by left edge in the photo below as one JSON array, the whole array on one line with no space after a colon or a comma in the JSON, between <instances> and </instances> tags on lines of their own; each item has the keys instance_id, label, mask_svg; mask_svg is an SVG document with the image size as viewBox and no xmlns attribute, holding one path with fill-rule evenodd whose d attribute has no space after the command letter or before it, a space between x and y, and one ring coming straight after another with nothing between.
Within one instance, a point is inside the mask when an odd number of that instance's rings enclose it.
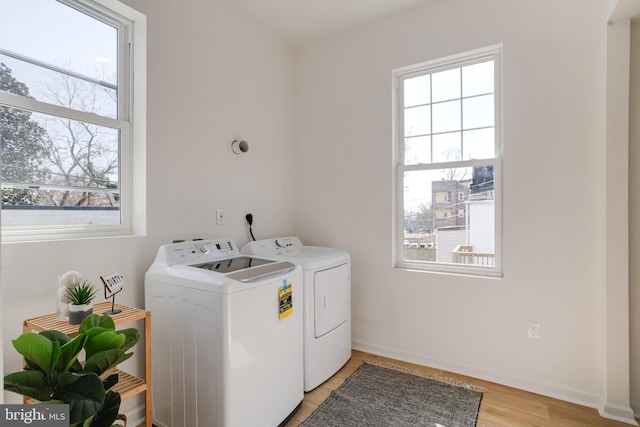
<instances>
[{"instance_id":1,"label":"white frame of the window cut off by left edge","mask_svg":"<svg viewBox=\"0 0 640 427\"><path fill-rule=\"evenodd\" d=\"M120 88L120 93L128 97L128 102L122 103L122 109L119 111L119 117L122 119L110 119L91 113L83 113L5 92L0 92L0 104L46 114L62 115L74 120L119 129L122 143L120 147L122 223L117 226L3 228L2 243L146 234L147 18L117 0L61 0L61 2L85 11L87 9L95 11L95 4L98 4L108 9L108 11L100 10L97 12L103 18L116 19L117 22L129 21L129 25L126 26L124 42L120 46L120 55L124 55L121 57L128 58L128 67L121 68L120 72L128 73L129 78L125 79L121 75L119 81L131 82L130 86Z\"/></svg>"}]
</instances>

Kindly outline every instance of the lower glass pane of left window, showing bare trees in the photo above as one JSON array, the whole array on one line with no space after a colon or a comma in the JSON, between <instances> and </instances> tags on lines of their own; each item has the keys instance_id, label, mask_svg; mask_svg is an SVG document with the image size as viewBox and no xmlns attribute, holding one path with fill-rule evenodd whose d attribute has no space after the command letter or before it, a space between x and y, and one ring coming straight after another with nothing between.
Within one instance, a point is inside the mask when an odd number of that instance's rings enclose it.
<instances>
[{"instance_id":1,"label":"lower glass pane of left window, showing bare trees","mask_svg":"<svg viewBox=\"0 0 640 427\"><path fill-rule=\"evenodd\" d=\"M119 206L117 129L7 107L0 117L4 205Z\"/></svg>"}]
</instances>

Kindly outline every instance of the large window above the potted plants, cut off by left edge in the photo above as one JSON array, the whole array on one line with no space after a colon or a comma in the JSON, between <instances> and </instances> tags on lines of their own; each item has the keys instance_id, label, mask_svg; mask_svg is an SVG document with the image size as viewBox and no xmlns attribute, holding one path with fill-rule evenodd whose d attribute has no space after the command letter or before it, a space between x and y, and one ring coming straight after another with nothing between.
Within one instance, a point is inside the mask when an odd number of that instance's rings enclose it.
<instances>
[{"instance_id":1,"label":"large window above the potted plants, cut off by left edge","mask_svg":"<svg viewBox=\"0 0 640 427\"><path fill-rule=\"evenodd\" d=\"M132 231L133 144L145 144L132 51L144 39L138 15L101 3L0 0L3 239Z\"/></svg>"}]
</instances>

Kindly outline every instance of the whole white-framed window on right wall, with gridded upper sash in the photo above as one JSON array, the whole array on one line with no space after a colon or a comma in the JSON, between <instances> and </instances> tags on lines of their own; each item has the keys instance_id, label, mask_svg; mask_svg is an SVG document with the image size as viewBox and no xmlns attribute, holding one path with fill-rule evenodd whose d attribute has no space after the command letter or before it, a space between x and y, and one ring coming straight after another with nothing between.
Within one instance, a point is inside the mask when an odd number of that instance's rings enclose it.
<instances>
[{"instance_id":1,"label":"whole white-framed window on right wall, with gridded upper sash","mask_svg":"<svg viewBox=\"0 0 640 427\"><path fill-rule=\"evenodd\" d=\"M491 46L393 72L399 268L501 275L501 57Z\"/></svg>"}]
</instances>

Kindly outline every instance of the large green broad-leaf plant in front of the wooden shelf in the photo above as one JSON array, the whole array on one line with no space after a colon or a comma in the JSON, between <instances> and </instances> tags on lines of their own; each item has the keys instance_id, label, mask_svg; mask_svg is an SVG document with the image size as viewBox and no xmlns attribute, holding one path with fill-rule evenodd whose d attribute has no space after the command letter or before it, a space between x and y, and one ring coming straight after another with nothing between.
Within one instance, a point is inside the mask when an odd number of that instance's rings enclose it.
<instances>
[{"instance_id":1,"label":"large green broad-leaf plant in front of the wooden shelf","mask_svg":"<svg viewBox=\"0 0 640 427\"><path fill-rule=\"evenodd\" d=\"M12 343L25 368L6 375L4 388L42 403L69 404L72 427L112 426L120 409L120 394L112 390L118 374L103 374L133 356L127 351L139 339L137 329L116 331L111 317L97 314L82 321L74 338L55 330L24 333Z\"/></svg>"}]
</instances>

